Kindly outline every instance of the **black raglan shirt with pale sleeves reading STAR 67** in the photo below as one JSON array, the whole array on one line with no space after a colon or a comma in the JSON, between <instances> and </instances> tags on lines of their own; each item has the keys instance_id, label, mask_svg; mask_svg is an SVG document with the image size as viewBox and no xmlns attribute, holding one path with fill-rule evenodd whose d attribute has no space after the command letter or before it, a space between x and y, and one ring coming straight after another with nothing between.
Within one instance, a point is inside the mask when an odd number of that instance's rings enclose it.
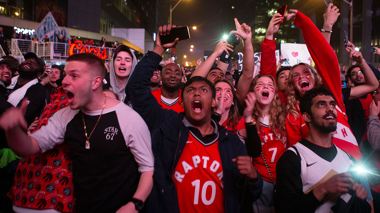
<instances>
[{"instance_id":1,"label":"black raglan shirt with pale sleeves reading STAR 67","mask_svg":"<svg viewBox=\"0 0 380 213\"><path fill-rule=\"evenodd\" d=\"M83 112L88 135L100 113ZM42 152L68 144L77 212L115 212L132 199L140 173L154 171L148 127L123 102L103 111L89 139L90 149L86 149L81 112L70 107L55 113L46 126L30 136L38 141Z\"/></svg>"}]
</instances>

